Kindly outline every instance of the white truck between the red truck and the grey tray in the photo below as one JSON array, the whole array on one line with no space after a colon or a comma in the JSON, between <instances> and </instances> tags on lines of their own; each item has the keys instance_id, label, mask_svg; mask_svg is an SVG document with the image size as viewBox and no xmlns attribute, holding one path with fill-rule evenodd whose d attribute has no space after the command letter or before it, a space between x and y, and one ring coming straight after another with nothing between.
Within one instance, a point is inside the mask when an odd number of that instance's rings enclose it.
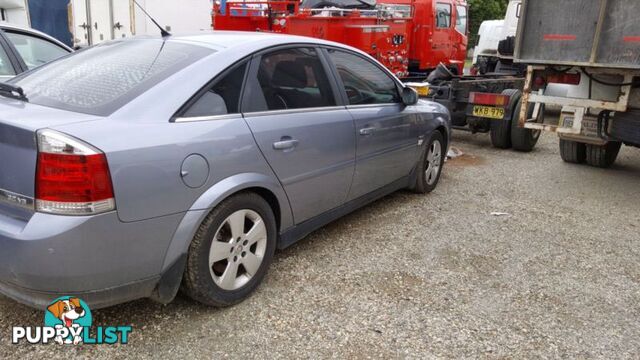
<instances>
[{"instance_id":1,"label":"white truck between the red truck and the grey tray","mask_svg":"<svg viewBox=\"0 0 640 360\"><path fill-rule=\"evenodd\" d=\"M472 74L524 73L523 68L513 64L521 6L522 0L510 0L503 20L488 20L480 25Z\"/></svg>"}]
</instances>

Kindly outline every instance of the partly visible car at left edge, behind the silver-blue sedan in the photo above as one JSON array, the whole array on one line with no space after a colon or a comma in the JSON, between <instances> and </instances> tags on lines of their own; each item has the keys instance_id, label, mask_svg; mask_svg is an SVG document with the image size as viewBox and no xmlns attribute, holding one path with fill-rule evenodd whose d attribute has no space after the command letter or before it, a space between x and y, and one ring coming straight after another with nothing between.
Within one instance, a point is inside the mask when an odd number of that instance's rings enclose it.
<instances>
[{"instance_id":1,"label":"partly visible car at left edge, behind the silver-blue sedan","mask_svg":"<svg viewBox=\"0 0 640 360\"><path fill-rule=\"evenodd\" d=\"M47 34L0 22L0 81L11 79L72 51Z\"/></svg>"}]
</instances>

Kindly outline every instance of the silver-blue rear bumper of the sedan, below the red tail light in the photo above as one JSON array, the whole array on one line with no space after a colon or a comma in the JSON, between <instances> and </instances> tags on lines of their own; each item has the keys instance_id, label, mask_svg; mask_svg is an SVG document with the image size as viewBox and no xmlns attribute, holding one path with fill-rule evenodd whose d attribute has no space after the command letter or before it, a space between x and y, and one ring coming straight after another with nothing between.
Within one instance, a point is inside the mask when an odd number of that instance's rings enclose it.
<instances>
[{"instance_id":1,"label":"silver-blue rear bumper of the sedan, below the red tail light","mask_svg":"<svg viewBox=\"0 0 640 360\"><path fill-rule=\"evenodd\" d=\"M0 213L0 293L38 308L63 295L92 307L148 297L182 217L123 223L115 212L28 220Z\"/></svg>"}]
</instances>

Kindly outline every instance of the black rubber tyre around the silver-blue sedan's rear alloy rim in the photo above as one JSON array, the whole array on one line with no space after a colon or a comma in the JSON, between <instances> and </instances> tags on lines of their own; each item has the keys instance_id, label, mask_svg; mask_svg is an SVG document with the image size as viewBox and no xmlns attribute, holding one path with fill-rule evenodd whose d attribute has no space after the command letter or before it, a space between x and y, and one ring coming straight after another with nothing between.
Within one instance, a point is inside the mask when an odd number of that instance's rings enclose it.
<instances>
[{"instance_id":1,"label":"black rubber tyre around the silver-blue sedan's rear alloy rim","mask_svg":"<svg viewBox=\"0 0 640 360\"><path fill-rule=\"evenodd\" d=\"M199 270L201 266L201 258L199 256L200 251L203 251L204 248L204 251L206 251L206 253L208 254L210 246L209 242L214 235L211 234L211 232L215 232L219 226L219 223L225 220L227 216L225 214L229 213L229 211L233 212L234 209L237 210L238 204L255 204L255 208L260 208L258 209L260 210L258 212L262 216L267 227L267 250L265 253L263 264L261 265L262 268L260 272L250 280L249 284L233 292L222 289L215 290L211 288L211 285L213 285L213 287L216 286L213 283L213 279L211 279L208 271L203 274L203 271ZM209 306L226 307L235 305L243 301L262 282L262 279L267 273L267 269L269 268L271 260L273 259L273 254L276 247L275 224L275 217L269 204L256 193L239 193L221 202L204 219L195 236L193 237L191 245L189 246L187 266L185 268L181 286L182 292L193 300ZM215 227L215 229L211 230L212 227Z\"/></svg>"}]
</instances>

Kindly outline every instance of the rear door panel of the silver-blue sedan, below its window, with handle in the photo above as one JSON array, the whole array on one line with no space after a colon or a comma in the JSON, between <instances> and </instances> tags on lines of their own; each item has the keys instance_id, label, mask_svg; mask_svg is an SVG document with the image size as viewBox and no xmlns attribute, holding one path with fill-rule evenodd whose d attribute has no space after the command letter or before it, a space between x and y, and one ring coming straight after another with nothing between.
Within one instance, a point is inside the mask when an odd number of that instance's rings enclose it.
<instances>
[{"instance_id":1,"label":"rear door panel of the silver-blue sedan, below its window, with handle","mask_svg":"<svg viewBox=\"0 0 640 360\"><path fill-rule=\"evenodd\" d=\"M347 110L269 111L245 118L288 195L295 223L344 203L356 148L353 119ZM280 141L298 143L291 149L275 149Z\"/></svg>"}]
</instances>

